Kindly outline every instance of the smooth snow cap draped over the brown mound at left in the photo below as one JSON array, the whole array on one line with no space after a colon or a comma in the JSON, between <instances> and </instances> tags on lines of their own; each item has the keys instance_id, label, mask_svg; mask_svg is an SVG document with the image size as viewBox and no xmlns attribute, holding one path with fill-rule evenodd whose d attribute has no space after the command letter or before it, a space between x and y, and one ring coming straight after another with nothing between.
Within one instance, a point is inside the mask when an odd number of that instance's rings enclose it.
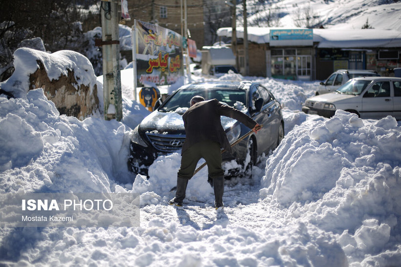
<instances>
[{"instance_id":1,"label":"smooth snow cap draped over the brown mound at left","mask_svg":"<svg viewBox=\"0 0 401 267\"><path fill-rule=\"evenodd\" d=\"M37 61L43 63L50 81L58 80L61 75L67 76L68 70L73 70L75 80L79 82L74 85L75 88L78 90L81 84L89 86L89 95L92 94L96 84L92 64L85 56L70 50L49 54L30 48L17 49L14 52L15 71L7 81L0 83L0 87L15 97L25 98L29 90L29 76L39 68Z\"/></svg>"}]
</instances>

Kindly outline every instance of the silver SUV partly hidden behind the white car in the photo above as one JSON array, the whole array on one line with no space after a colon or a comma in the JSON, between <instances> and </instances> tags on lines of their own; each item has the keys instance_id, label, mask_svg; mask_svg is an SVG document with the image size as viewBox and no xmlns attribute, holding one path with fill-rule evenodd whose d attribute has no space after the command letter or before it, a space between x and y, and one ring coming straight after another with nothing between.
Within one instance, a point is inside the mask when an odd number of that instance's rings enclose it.
<instances>
[{"instance_id":1,"label":"silver SUV partly hidden behind the white car","mask_svg":"<svg viewBox=\"0 0 401 267\"><path fill-rule=\"evenodd\" d=\"M346 70L339 69L335 71L332 75L327 78L326 81L320 82L320 87L317 89L315 95L321 95L326 93L335 92L341 85L348 82L348 80L354 79L356 77L371 77L380 76L377 72L373 70Z\"/></svg>"}]
</instances>

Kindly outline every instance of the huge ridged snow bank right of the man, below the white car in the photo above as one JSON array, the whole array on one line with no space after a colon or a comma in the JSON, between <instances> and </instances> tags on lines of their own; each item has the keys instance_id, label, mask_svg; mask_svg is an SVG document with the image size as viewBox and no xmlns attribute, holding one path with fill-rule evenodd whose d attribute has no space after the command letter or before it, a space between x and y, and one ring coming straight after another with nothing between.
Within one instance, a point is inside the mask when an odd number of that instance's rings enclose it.
<instances>
[{"instance_id":1,"label":"huge ridged snow bank right of the man, below the white car","mask_svg":"<svg viewBox=\"0 0 401 267\"><path fill-rule=\"evenodd\" d=\"M260 197L338 234L349 262L397 263L401 127L337 111L295 126L267 159ZM386 251L387 250L387 251Z\"/></svg>"}]
</instances>

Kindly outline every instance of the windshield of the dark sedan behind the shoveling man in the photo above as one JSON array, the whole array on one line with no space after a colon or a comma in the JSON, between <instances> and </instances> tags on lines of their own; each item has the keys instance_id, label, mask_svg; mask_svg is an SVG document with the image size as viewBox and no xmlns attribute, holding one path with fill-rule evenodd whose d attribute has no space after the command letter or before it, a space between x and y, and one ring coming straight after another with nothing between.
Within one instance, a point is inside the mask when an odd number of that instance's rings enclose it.
<instances>
[{"instance_id":1,"label":"windshield of the dark sedan behind the shoveling man","mask_svg":"<svg viewBox=\"0 0 401 267\"><path fill-rule=\"evenodd\" d=\"M163 103L159 111L171 112L176 111L178 108L189 108L189 101L194 96L202 96L205 100L215 98L230 106L235 106L237 102L245 106L246 103L246 91L244 89L184 88L178 90Z\"/></svg>"}]
</instances>

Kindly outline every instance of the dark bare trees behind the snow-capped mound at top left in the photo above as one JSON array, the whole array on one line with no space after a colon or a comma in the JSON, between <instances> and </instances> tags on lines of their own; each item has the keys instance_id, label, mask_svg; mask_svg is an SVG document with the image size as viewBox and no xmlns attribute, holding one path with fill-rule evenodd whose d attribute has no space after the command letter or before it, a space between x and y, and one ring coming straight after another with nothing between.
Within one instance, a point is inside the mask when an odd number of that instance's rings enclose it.
<instances>
[{"instance_id":1,"label":"dark bare trees behind the snow-capped mound at top left","mask_svg":"<svg viewBox=\"0 0 401 267\"><path fill-rule=\"evenodd\" d=\"M0 79L12 73L12 54L21 41L40 37L47 51L81 48L81 24L96 0L1 0ZM3 75L4 72L8 72Z\"/></svg>"}]
</instances>

